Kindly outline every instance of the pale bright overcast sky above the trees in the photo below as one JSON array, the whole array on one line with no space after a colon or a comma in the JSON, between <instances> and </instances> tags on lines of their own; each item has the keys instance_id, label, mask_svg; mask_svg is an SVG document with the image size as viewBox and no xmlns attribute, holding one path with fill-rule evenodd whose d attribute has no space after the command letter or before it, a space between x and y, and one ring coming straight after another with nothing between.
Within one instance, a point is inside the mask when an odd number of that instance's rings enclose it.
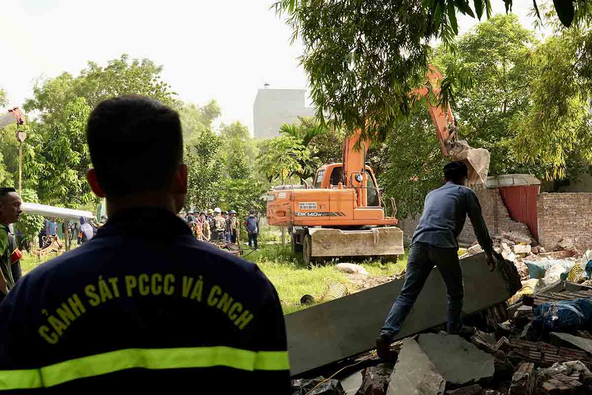
<instances>
[{"instance_id":1,"label":"pale bright overcast sky above the trees","mask_svg":"<svg viewBox=\"0 0 592 395\"><path fill-rule=\"evenodd\" d=\"M105 65L128 53L164 65L163 79L185 102L216 99L218 120L253 128L253 101L265 82L305 88L300 43L269 5L274 0L5 0L0 14L0 87L9 105L32 97L34 80L88 60ZM505 12L494 0L494 13ZM530 2L514 1L527 27ZM477 23L459 16L464 33Z\"/></svg>"}]
</instances>

